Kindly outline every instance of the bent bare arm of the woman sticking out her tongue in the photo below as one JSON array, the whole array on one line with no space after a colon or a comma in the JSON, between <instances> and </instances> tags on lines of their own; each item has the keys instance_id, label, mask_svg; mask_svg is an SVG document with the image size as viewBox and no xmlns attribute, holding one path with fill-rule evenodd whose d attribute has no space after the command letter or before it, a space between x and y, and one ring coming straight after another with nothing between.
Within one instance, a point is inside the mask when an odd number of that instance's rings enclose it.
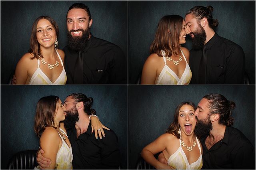
<instances>
[{"instance_id":1,"label":"bent bare arm of the woman sticking out her tongue","mask_svg":"<svg viewBox=\"0 0 256 170\"><path fill-rule=\"evenodd\" d=\"M167 144L170 144L170 134L162 134L152 143L148 144L141 151L142 158L148 162L150 165L154 166L156 169L171 169L172 167L159 162L154 154L161 152L167 148Z\"/></svg>"}]
</instances>

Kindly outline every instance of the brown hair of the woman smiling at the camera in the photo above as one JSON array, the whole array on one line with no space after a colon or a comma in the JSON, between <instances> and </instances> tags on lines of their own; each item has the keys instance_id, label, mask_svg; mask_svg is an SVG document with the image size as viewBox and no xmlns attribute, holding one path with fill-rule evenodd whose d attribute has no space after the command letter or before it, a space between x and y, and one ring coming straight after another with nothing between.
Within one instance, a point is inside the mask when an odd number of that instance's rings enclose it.
<instances>
[{"instance_id":1,"label":"brown hair of the woman smiling at the camera","mask_svg":"<svg viewBox=\"0 0 256 170\"><path fill-rule=\"evenodd\" d=\"M43 58L43 55L40 50L40 44L38 43L37 38L36 38L36 33L37 33L36 27L37 27L38 21L41 19L48 20L52 24L52 27L54 28L54 30L56 32L57 38L59 36L58 25L52 18L50 18L49 16L40 16L40 17L36 18L35 22L32 25L32 32L31 32L31 36L30 36L30 49L28 50L29 53L34 54L34 57L32 57L31 59L34 59L34 58L39 59L39 57Z\"/></svg>"}]
</instances>

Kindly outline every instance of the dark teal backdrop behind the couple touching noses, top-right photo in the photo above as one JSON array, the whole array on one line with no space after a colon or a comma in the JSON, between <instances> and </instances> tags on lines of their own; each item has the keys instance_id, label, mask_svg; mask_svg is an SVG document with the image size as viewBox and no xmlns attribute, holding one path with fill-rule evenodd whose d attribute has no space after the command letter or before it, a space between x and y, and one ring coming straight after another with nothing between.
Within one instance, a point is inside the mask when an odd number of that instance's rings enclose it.
<instances>
[{"instance_id":1,"label":"dark teal backdrop behind the couple touching noses, top-right photo","mask_svg":"<svg viewBox=\"0 0 256 170\"><path fill-rule=\"evenodd\" d=\"M255 2L254 1L129 1L129 84L135 84L143 64L150 55L157 24L165 15L182 17L194 6L213 6L218 19L216 32L240 45L245 53L245 69L255 84ZM186 38L182 46L192 49ZM164 62L164 61L163 61Z\"/></svg>"}]
</instances>

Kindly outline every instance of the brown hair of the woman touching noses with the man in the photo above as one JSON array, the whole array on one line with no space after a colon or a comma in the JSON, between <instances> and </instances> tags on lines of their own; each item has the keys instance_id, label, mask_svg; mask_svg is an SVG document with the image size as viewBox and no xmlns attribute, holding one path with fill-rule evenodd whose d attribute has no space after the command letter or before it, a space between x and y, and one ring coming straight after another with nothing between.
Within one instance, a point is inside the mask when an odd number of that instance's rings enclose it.
<instances>
[{"instance_id":1,"label":"brown hair of the woman touching noses with the man","mask_svg":"<svg viewBox=\"0 0 256 170\"><path fill-rule=\"evenodd\" d=\"M183 18L179 15L167 15L161 18L150 46L150 54L156 53L159 57L180 54L180 33L183 29Z\"/></svg>"}]
</instances>

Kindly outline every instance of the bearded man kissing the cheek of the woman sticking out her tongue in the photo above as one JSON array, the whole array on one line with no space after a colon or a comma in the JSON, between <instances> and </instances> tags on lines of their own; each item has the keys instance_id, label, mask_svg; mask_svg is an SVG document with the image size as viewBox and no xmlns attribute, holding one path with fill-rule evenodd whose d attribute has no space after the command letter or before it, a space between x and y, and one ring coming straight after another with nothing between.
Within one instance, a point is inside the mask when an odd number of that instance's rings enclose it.
<instances>
[{"instance_id":1,"label":"bearded man kissing the cheek of the woman sticking out her tongue","mask_svg":"<svg viewBox=\"0 0 256 170\"><path fill-rule=\"evenodd\" d=\"M195 132L203 146L202 169L255 169L252 144L240 130L231 127L234 108L235 103L220 94L206 95L198 103ZM160 162L164 163L162 156Z\"/></svg>"}]
</instances>

